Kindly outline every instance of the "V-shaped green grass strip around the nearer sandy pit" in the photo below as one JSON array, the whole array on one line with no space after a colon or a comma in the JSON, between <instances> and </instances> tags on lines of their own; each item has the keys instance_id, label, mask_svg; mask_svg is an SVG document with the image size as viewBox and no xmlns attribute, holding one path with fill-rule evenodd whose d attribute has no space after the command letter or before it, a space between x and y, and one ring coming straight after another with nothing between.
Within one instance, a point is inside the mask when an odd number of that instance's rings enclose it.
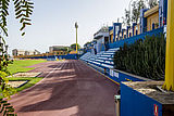
<instances>
[{"instance_id":1,"label":"V-shaped green grass strip around the nearer sandy pit","mask_svg":"<svg viewBox=\"0 0 174 116\"><path fill-rule=\"evenodd\" d=\"M42 77L10 77L10 78L8 78L9 80L13 80L13 81L20 81L20 80L28 80L28 82L27 83L25 83L24 86L22 86L22 87L20 87L20 88L15 88L15 90L17 91L17 92L20 92L20 91L22 91L22 90L24 90L24 89L27 89L27 88L29 88L29 87L32 87L32 86L34 86L34 85L36 85L37 82L39 82L41 79L42 79Z\"/></svg>"}]
</instances>

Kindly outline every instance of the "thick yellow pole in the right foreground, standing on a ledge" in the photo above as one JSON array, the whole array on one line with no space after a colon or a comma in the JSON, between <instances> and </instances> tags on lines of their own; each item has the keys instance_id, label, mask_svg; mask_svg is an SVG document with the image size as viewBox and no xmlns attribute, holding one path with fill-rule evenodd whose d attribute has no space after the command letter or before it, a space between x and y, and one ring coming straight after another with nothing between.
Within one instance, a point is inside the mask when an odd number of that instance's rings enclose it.
<instances>
[{"instance_id":1,"label":"thick yellow pole in the right foreground, standing on a ledge","mask_svg":"<svg viewBox=\"0 0 174 116\"><path fill-rule=\"evenodd\" d=\"M167 0L165 82L163 88L174 91L174 0Z\"/></svg>"}]
</instances>

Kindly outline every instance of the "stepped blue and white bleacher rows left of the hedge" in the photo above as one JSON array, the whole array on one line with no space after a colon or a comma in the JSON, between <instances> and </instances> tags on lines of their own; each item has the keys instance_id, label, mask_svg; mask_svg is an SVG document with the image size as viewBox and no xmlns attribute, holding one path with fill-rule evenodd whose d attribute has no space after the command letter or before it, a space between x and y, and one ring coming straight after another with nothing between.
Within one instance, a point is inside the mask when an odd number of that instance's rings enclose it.
<instances>
[{"instance_id":1,"label":"stepped blue and white bleacher rows left of the hedge","mask_svg":"<svg viewBox=\"0 0 174 116\"><path fill-rule=\"evenodd\" d=\"M91 52L85 53L83 56L79 57L79 60L98 66L100 68L113 68L113 56L115 51L117 51L119 48L109 49L108 51L102 51L100 53L94 54Z\"/></svg>"}]
</instances>

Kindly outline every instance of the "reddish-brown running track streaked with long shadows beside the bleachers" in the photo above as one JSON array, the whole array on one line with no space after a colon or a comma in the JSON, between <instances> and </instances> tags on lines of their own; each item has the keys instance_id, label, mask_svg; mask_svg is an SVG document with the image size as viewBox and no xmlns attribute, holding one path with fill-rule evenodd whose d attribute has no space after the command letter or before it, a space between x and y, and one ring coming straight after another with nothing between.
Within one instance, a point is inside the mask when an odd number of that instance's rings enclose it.
<instances>
[{"instance_id":1,"label":"reddish-brown running track streaked with long shadows beside the bleachers","mask_svg":"<svg viewBox=\"0 0 174 116\"><path fill-rule=\"evenodd\" d=\"M10 101L18 116L115 116L117 86L80 61L47 62L38 85Z\"/></svg>"}]
</instances>

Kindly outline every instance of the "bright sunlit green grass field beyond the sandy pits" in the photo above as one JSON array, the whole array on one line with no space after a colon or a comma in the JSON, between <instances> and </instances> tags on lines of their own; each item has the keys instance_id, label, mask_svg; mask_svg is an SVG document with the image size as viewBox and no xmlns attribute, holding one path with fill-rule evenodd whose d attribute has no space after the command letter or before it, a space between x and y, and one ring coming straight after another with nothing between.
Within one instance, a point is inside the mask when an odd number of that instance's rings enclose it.
<instances>
[{"instance_id":1,"label":"bright sunlit green grass field beyond the sandy pits","mask_svg":"<svg viewBox=\"0 0 174 116\"><path fill-rule=\"evenodd\" d=\"M24 73L34 69L35 67L26 67L26 66L32 66L34 64L39 64L47 62L46 60L18 60L14 61L13 64L10 64L8 66L8 69L11 74L15 73Z\"/></svg>"}]
</instances>

